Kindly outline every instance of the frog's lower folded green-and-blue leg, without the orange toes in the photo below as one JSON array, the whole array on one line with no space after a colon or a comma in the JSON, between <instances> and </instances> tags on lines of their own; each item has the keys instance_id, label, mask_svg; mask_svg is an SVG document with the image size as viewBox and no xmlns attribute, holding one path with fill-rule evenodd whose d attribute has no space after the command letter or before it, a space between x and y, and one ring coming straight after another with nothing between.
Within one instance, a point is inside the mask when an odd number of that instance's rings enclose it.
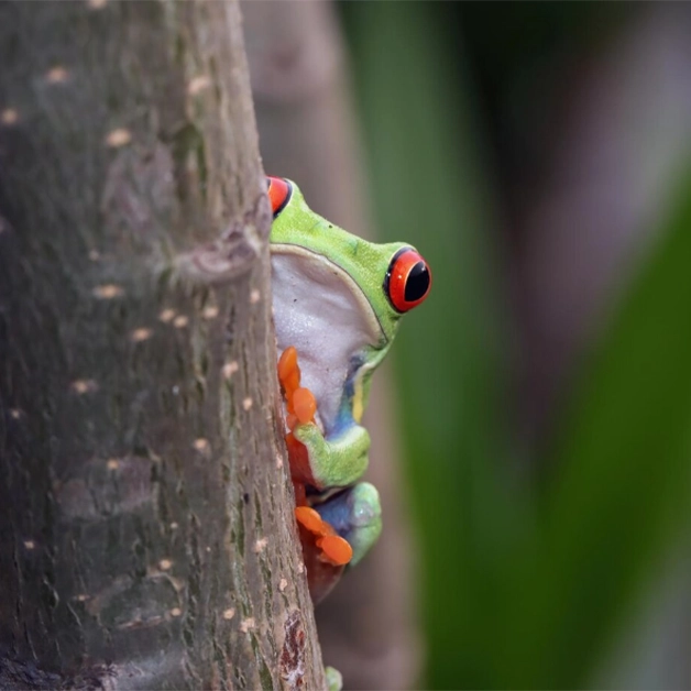
<instances>
[{"instance_id":1,"label":"frog's lower folded green-and-blue leg, without the orange toes","mask_svg":"<svg viewBox=\"0 0 691 691\"><path fill-rule=\"evenodd\" d=\"M314 508L353 549L350 564L357 564L382 531L380 494L369 482L359 482Z\"/></svg>"}]
</instances>

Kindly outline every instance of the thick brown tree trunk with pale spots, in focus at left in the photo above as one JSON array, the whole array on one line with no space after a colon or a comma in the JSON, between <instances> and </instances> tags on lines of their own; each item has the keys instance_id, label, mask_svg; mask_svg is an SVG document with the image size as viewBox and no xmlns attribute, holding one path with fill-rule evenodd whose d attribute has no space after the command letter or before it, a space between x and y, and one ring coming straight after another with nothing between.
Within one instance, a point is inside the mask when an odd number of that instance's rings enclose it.
<instances>
[{"instance_id":1,"label":"thick brown tree trunk with pale spots, in focus at left","mask_svg":"<svg viewBox=\"0 0 691 691\"><path fill-rule=\"evenodd\" d=\"M4 3L0 55L0 685L323 688L237 3Z\"/></svg>"}]
</instances>

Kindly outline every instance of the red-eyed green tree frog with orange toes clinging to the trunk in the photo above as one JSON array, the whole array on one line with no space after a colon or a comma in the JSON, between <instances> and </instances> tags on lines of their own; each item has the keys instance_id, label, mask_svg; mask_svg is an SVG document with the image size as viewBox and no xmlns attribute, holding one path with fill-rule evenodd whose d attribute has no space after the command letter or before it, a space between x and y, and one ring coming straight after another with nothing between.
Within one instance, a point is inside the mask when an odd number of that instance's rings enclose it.
<instances>
[{"instance_id":1,"label":"red-eyed green tree frog with orange toes clinging to the trunk","mask_svg":"<svg viewBox=\"0 0 691 691\"><path fill-rule=\"evenodd\" d=\"M372 374L401 318L426 300L431 271L405 242L339 228L299 187L267 177L272 300L290 479L310 594L319 602L382 531L377 490L362 481Z\"/></svg>"}]
</instances>

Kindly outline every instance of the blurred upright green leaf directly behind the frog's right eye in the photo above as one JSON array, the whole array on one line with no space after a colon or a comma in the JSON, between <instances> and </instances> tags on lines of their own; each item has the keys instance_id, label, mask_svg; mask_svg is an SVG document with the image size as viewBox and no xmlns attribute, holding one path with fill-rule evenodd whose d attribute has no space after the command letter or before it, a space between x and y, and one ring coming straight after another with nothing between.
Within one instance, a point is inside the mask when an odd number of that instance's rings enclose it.
<instances>
[{"instance_id":1,"label":"blurred upright green leaf directly behind the frog's right eye","mask_svg":"<svg viewBox=\"0 0 691 691\"><path fill-rule=\"evenodd\" d=\"M520 522L496 472L508 450L486 155L440 7L349 3L343 11L380 228L385 239L414 243L434 274L429 299L406 317L394 348L420 526L424 683L484 687L501 615L496 560Z\"/></svg>"}]
</instances>

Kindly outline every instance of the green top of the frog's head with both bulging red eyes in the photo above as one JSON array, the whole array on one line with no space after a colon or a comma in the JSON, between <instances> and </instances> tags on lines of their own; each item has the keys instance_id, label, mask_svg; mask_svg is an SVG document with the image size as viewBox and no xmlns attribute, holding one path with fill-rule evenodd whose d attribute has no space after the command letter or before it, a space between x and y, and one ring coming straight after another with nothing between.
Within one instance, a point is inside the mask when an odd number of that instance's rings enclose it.
<instances>
[{"instance_id":1,"label":"green top of the frog's head with both bulging red eyes","mask_svg":"<svg viewBox=\"0 0 691 691\"><path fill-rule=\"evenodd\" d=\"M373 311L379 322L383 338L371 346L387 350L401 317L429 294L427 262L409 244L368 242L333 226L309 209L290 180L268 177L267 183L274 212L272 243L297 245L340 268L362 311Z\"/></svg>"}]
</instances>

